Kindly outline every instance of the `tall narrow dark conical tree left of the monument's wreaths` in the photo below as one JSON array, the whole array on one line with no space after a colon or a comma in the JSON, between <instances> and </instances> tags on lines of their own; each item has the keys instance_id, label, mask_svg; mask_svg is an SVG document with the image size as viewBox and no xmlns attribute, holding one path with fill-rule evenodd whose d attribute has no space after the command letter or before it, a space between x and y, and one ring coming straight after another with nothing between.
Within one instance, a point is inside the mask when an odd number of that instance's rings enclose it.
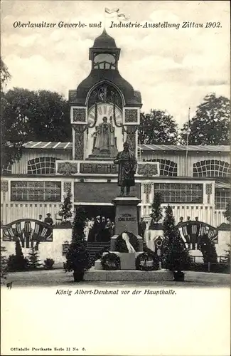
<instances>
[{"instance_id":1,"label":"tall narrow dark conical tree left of the monument's wreaths","mask_svg":"<svg viewBox=\"0 0 231 356\"><path fill-rule=\"evenodd\" d=\"M73 271L74 281L76 282L82 281L84 272L91 267L84 226L85 211L82 206L79 206L75 211L75 219L72 225L72 241L66 254L67 261L63 265L65 272Z\"/></svg>"}]
</instances>

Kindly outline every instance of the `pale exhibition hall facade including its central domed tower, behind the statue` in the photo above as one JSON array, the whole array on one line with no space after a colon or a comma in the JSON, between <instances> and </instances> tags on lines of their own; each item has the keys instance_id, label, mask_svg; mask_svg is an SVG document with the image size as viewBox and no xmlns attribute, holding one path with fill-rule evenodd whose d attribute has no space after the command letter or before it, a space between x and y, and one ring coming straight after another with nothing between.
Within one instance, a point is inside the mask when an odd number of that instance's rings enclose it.
<instances>
[{"instance_id":1,"label":"pale exhibition hall facade including its central domed tower, behind the statue","mask_svg":"<svg viewBox=\"0 0 231 356\"><path fill-rule=\"evenodd\" d=\"M90 75L69 90L72 142L28 142L22 157L1 177L1 224L58 212L68 189L73 207L113 219L119 193L113 159L129 142L138 169L131 194L141 200L139 218L149 221L155 192L170 204L176 222L188 218L218 227L230 200L230 147L140 145L141 93L119 74L120 49L104 30L90 48ZM108 147L97 140L107 124ZM101 127L101 128L100 128ZM106 142L107 143L107 142Z\"/></svg>"}]
</instances>

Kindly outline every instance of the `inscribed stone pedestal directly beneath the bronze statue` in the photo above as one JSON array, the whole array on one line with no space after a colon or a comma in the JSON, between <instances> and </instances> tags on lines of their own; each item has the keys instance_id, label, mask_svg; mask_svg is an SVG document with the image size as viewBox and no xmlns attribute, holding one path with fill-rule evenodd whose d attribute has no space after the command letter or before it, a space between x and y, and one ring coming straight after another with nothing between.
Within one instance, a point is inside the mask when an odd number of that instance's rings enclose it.
<instances>
[{"instance_id":1,"label":"inscribed stone pedestal directly beneath the bronze statue","mask_svg":"<svg viewBox=\"0 0 231 356\"><path fill-rule=\"evenodd\" d=\"M110 250L114 251L117 237L122 232L127 231L136 235L139 241L139 251L143 251L143 239L138 235L137 219L137 205L140 203L140 199L137 197L117 197L112 202L115 206L115 230L114 236L111 238Z\"/></svg>"}]
</instances>

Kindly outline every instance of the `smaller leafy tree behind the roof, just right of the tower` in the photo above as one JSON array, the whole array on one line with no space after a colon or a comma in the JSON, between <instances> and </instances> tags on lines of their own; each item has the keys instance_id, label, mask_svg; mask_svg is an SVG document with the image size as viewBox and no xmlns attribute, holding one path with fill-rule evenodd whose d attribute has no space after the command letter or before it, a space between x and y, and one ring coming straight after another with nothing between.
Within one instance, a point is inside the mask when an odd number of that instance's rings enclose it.
<instances>
[{"instance_id":1,"label":"smaller leafy tree behind the roof, just right of the tower","mask_svg":"<svg viewBox=\"0 0 231 356\"><path fill-rule=\"evenodd\" d=\"M138 140L141 144L176 145L178 125L171 115L161 110L141 112Z\"/></svg>"}]
</instances>

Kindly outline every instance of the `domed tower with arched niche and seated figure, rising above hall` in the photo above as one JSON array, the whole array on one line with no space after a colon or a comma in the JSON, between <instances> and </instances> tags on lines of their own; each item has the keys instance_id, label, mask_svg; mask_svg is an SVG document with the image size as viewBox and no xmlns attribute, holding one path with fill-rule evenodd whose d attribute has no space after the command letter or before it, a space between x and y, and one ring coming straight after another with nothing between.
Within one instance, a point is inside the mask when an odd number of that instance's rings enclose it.
<instances>
[{"instance_id":1,"label":"domed tower with arched niche and seated figure, rising above hall","mask_svg":"<svg viewBox=\"0 0 231 356\"><path fill-rule=\"evenodd\" d=\"M112 160L125 140L137 155L141 94L119 74L119 55L104 29L89 51L90 74L69 91L73 160Z\"/></svg>"}]
</instances>

